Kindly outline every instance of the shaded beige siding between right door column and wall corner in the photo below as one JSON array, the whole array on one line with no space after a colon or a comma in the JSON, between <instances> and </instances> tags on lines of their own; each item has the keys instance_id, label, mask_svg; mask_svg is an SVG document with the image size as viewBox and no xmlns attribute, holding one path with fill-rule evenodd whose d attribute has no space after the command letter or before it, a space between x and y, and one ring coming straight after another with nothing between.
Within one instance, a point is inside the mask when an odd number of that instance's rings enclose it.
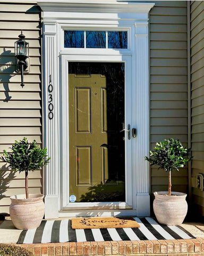
<instances>
[{"instance_id":1,"label":"shaded beige siding between right door column and wall corner","mask_svg":"<svg viewBox=\"0 0 204 256\"><path fill-rule=\"evenodd\" d=\"M153 1L152 1L153 2ZM188 146L186 1L154 1L150 11L150 147L165 138ZM151 194L168 189L167 173L151 167ZM172 190L188 192L188 168L172 173Z\"/></svg>"}]
</instances>

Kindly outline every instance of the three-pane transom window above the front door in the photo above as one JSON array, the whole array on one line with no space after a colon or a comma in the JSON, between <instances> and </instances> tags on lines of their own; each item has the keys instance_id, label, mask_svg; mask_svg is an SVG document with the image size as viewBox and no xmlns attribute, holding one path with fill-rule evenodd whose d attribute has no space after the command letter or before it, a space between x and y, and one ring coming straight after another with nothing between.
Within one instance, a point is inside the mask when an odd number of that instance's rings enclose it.
<instances>
[{"instance_id":1,"label":"three-pane transom window above the front door","mask_svg":"<svg viewBox=\"0 0 204 256\"><path fill-rule=\"evenodd\" d=\"M127 49L128 31L64 31L65 48Z\"/></svg>"}]
</instances>

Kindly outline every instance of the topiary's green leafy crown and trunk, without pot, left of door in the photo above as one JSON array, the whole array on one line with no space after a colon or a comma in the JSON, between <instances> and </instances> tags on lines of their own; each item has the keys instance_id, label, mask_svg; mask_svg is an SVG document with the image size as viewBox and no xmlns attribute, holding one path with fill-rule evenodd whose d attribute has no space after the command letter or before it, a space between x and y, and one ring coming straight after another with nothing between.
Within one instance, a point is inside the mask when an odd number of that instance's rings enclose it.
<instances>
[{"instance_id":1,"label":"topiary's green leafy crown and trunk, without pot, left of door","mask_svg":"<svg viewBox=\"0 0 204 256\"><path fill-rule=\"evenodd\" d=\"M33 140L29 143L27 138L16 141L11 147L11 152L6 152L2 156L2 160L8 164L9 169L19 172L25 172L25 195L28 194L28 171L40 170L41 167L49 163L50 157L47 157L47 149L40 149Z\"/></svg>"}]
</instances>

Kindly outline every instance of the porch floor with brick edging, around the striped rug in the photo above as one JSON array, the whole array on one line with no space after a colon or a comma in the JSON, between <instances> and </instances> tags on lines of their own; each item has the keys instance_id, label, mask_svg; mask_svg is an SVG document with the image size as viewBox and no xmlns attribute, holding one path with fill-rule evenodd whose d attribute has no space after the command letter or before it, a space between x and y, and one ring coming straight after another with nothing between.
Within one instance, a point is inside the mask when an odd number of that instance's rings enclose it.
<instances>
[{"instance_id":1,"label":"porch floor with brick edging, around the striped rug","mask_svg":"<svg viewBox=\"0 0 204 256\"><path fill-rule=\"evenodd\" d=\"M140 255L140 256L204 256L204 223L184 222L181 225L196 239L155 240L155 241L105 241L67 242L47 244L23 244L35 256L68 255ZM0 225L0 243L15 244L22 230L13 226L11 220Z\"/></svg>"}]
</instances>

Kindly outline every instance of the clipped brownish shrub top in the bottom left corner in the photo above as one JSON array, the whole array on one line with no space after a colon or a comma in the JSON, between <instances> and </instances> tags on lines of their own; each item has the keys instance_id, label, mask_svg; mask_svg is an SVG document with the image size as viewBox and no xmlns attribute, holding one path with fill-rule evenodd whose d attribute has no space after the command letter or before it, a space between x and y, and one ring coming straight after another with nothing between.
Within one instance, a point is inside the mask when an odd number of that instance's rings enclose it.
<instances>
[{"instance_id":1,"label":"clipped brownish shrub top in the bottom left corner","mask_svg":"<svg viewBox=\"0 0 204 256\"><path fill-rule=\"evenodd\" d=\"M33 256L33 253L20 246L0 244L0 256Z\"/></svg>"}]
</instances>

